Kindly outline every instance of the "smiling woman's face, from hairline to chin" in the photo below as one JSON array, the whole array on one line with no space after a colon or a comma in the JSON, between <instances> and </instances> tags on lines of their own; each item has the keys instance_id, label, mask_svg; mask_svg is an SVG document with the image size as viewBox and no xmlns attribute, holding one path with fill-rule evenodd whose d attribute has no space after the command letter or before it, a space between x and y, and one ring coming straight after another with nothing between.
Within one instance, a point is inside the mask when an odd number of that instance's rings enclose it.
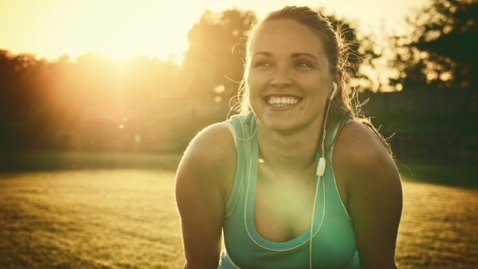
<instances>
[{"instance_id":1,"label":"smiling woman's face, from hairline to chin","mask_svg":"<svg viewBox=\"0 0 478 269\"><path fill-rule=\"evenodd\" d=\"M259 124L277 131L320 126L334 76L317 34L290 19L269 21L249 53L249 103Z\"/></svg>"}]
</instances>

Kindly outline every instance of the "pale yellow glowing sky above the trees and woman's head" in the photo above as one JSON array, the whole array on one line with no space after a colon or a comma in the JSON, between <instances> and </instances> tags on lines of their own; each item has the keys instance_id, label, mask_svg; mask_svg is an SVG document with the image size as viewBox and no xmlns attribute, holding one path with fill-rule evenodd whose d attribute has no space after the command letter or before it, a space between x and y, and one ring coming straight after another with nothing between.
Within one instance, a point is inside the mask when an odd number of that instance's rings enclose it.
<instances>
[{"instance_id":1,"label":"pale yellow glowing sky above the trees and woman's head","mask_svg":"<svg viewBox=\"0 0 478 269\"><path fill-rule=\"evenodd\" d=\"M89 51L118 60L134 55L180 62L187 31L205 10L252 10L258 17L284 5L323 8L374 34L405 34L405 17L429 0L0 0L0 49L54 59Z\"/></svg>"}]
</instances>

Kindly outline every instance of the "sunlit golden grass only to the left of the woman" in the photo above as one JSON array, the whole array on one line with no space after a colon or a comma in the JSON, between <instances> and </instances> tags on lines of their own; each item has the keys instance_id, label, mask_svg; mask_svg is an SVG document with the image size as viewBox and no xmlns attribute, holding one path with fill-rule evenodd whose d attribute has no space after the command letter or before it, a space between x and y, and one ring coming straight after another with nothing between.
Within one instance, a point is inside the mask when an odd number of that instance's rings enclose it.
<instances>
[{"instance_id":1,"label":"sunlit golden grass only to the left of the woman","mask_svg":"<svg viewBox=\"0 0 478 269\"><path fill-rule=\"evenodd\" d=\"M173 172L0 175L0 268L179 268Z\"/></svg>"}]
</instances>

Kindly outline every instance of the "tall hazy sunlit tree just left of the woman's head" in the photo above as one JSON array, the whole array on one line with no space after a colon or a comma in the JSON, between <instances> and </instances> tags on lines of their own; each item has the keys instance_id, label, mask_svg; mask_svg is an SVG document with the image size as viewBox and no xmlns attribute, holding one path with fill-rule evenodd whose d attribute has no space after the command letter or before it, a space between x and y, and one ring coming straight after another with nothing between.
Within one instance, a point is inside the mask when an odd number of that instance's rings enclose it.
<instances>
[{"instance_id":1,"label":"tall hazy sunlit tree just left of the woman's head","mask_svg":"<svg viewBox=\"0 0 478 269\"><path fill-rule=\"evenodd\" d=\"M236 95L244 71L243 44L254 19L251 11L204 12L187 35L183 65L190 95L211 101L216 97L225 104Z\"/></svg>"}]
</instances>

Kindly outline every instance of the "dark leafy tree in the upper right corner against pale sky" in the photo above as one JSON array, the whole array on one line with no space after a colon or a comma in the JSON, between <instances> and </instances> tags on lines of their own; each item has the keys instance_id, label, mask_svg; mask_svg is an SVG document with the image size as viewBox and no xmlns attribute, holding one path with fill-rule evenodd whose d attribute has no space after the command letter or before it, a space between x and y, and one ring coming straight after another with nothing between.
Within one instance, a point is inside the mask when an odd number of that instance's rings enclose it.
<instances>
[{"instance_id":1,"label":"dark leafy tree in the upper right corner against pale sky","mask_svg":"<svg viewBox=\"0 0 478 269\"><path fill-rule=\"evenodd\" d=\"M409 18L412 34L392 39L400 74L391 84L476 89L477 19L475 0L434 0Z\"/></svg>"}]
</instances>

